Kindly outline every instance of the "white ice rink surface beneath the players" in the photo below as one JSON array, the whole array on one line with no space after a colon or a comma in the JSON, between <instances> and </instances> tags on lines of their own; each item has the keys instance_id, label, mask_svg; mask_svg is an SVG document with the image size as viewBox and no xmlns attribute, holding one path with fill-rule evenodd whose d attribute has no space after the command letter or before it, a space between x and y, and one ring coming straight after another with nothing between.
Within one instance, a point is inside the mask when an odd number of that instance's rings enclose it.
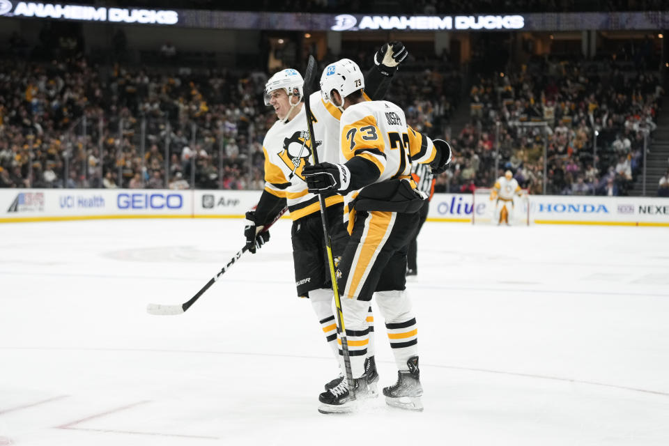
<instances>
[{"instance_id":1,"label":"white ice rink surface beneath the players","mask_svg":"<svg viewBox=\"0 0 669 446\"><path fill-rule=\"evenodd\" d=\"M0 445L669 445L669 229L428 222L423 413L321 415L337 374L290 222L0 225ZM376 314L380 385L397 378ZM364 443L363 443L364 442Z\"/></svg>"}]
</instances>

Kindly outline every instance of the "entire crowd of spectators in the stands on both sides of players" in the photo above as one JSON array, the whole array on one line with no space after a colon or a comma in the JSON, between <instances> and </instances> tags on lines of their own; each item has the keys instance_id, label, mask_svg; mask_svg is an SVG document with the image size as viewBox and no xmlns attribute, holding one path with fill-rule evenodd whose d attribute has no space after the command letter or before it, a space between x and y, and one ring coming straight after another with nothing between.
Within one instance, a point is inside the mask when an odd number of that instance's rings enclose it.
<instances>
[{"instance_id":1,"label":"entire crowd of spectators in the stands on both sides of players","mask_svg":"<svg viewBox=\"0 0 669 446\"><path fill-rule=\"evenodd\" d=\"M2 59L0 187L261 189L262 141L276 119L263 105L266 79L82 56ZM545 145L548 194L627 194L664 93L656 75L613 62L541 59L475 78L472 121L450 134L464 82L441 64L401 70L389 93L413 128L452 141L437 192L490 187L511 169L542 193Z\"/></svg>"}]
</instances>

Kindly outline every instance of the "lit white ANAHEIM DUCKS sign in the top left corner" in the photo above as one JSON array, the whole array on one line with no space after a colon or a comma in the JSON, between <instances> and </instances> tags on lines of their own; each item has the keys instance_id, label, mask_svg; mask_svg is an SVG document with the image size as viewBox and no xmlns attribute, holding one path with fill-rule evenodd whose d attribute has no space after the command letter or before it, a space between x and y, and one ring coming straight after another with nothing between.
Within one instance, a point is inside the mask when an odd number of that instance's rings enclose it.
<instances>
[{"instance_id":1,"label":"lit white ANAHEIM DUCKS sign in the top left corner","mask_svg":"<svg viewBox=\"0 0 669 446\"><path fill-rule=\"evenodd\" d=\"M0 16L31 17L80 22L114 22L175 25L179 15L174 10L105 8L61 3L0 0Z\"/></svg>"}]
</instances>

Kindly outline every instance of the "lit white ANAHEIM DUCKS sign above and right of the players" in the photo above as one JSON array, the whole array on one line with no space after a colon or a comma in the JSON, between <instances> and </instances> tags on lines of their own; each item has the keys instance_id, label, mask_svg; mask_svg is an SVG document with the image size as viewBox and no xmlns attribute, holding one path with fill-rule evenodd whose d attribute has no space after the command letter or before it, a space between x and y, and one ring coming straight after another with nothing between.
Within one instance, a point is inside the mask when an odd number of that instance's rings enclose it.
<instances>
[{"instance_id":1,"label":"lit white ANAHEIM DUCKS sign above and right of the players","mask_svg":"<svg viewBox=\"0 0 669 446\"><path fill-rule=\"evenodd\" d=\"M522 15L362 15L334 16L330 31L401 29L406 31L468 31L523 29Z\"/></svg>"}]
</instances>

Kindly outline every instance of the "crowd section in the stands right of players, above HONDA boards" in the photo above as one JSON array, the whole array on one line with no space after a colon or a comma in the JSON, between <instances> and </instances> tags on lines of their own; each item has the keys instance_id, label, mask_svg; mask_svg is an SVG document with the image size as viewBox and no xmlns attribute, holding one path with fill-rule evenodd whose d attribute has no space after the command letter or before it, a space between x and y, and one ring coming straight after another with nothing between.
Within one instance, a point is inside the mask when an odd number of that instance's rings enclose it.
<instances>
[{"instance_id":1,"label":"crowd section in the stands right of players, above HONDA boards","mask_svg":"<svg viewBox=\"0 0 669 446\"><path fill-rule=\"evenodd\" d=\"M542 61L479 77L472 122L438 188L491 187L510 169L521 187L548 194L626 195L652 141L664 91L656 75L615 63Z\"/></svg>"}]
</instances>

